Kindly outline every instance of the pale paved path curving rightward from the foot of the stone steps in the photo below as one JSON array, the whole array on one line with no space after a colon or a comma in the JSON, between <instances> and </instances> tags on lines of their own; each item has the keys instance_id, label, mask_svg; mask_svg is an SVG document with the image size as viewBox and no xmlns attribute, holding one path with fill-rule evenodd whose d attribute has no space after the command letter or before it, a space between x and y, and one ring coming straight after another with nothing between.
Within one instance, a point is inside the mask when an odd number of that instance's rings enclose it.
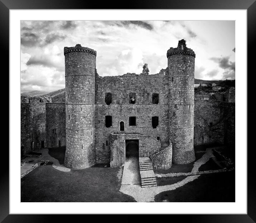
<instances>
[{"instance_id":1,"label":"pale paved path curving rightward from the foot of the stone steps","mask_svg":"<svg viewBox=\"0 0 256 223\"><path fill-rule=\"evenodd\" d=\"M214 155L212 154L212 148L207 148L206 153L203 154L201 159L198 159L194 163L194 167L192 171L197 172L199 167L205 164L210 159L210 157L213 157L213 156ZM120 192L132 196L137 202L154 202L154 197L157 194L162 193L164 191L168 191L168 190L175 190L176 188L182 187L186 183L191 182L197 179L198 177L200 177L200 175L193 175L193 176L186 177L185 179L175 184L158 186L158 187L141 188L140 185L121 185Z\"/></svg>"}]
</instances>

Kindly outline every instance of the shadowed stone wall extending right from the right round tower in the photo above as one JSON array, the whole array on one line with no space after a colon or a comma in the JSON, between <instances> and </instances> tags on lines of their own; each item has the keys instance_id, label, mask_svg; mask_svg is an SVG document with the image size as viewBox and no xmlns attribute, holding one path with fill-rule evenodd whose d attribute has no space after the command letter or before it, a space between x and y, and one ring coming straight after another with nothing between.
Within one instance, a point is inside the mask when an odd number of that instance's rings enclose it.
<instances>
[{"instance_id":1,"label":"shadowed stone wall extending right from the right round tower","mask_svg":"<svg viewBox=\"0 0 256 223\"><path fill-rule=\"evenodd\" d=\"M235 145L235 103L195 101L194 144Z\"/></svg>"}]
</instances>

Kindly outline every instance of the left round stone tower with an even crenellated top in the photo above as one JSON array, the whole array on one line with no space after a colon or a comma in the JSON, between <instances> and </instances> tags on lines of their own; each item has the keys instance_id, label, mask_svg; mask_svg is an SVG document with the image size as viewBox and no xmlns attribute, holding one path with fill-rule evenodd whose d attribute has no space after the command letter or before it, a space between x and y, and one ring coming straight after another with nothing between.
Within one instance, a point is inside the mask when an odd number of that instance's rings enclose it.
<instances>
[{"instance_id":1,"label":"left round stone tower with an even crenellated top","mask_svg":"<svg viewBox=\"0 0 256 223\"><path fill-rule=\"evenodd\" d=\"M66 84L66 154L64 165L91 167L95 158L96 51L77 44L64 47Z\"/></svg>"}]
</instances>

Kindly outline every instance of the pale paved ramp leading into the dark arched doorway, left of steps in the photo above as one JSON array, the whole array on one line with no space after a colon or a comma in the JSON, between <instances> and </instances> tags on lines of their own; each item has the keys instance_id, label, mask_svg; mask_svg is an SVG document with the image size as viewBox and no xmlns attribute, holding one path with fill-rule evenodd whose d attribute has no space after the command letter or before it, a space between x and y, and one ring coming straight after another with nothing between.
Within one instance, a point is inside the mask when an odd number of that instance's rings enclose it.
<instances>
[{"instance_id":1,"label":"pale paved ramp leading into the dark arched doorway, left of steps","mask_svg":"<svg viewBox=\"0 0 256 223\"><path fill-rule=\"evenodd\" d=\"M130 184L141 185L141 176L139 174L138 157L129 157L125 159L121 185L130 185Z\"/></svg>"}]
</instances>

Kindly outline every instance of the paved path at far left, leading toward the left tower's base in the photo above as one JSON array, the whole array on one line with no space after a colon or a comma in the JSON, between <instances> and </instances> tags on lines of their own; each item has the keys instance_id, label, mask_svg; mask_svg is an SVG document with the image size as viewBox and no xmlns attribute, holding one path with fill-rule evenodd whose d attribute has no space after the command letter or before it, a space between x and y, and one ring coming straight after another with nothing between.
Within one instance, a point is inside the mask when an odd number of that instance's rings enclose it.
<instances>
[{"instance_id":1,"label":"paved path at far left, leading toward the left tower's base","mask_svg":"<svg viewBox=\"0 0 256 223\"><path fill-rule=\"evenodd\" d=\"M63 164L60 164L58 159L55 159L55 158L51 157L51 155L48 153L47 148L36 149L36 150L33 150L33 152L41 153L42 156L41 157L26 157L26 158L22 159L21 160L21 167L20 167L20 171L21 171L20 175L22 175L23 173L25 173L26 171L31 169L36 163L39 164L39 162L41 160L48 160L49 162L52 162L53 167L55 169L60 170L60 171L63 171L63 172L69 172L70 171L69 168L65 167ZM33 162L23 163L23 162L27 162L27 161L33 161Z\"/></svg>"}]
</instances>

